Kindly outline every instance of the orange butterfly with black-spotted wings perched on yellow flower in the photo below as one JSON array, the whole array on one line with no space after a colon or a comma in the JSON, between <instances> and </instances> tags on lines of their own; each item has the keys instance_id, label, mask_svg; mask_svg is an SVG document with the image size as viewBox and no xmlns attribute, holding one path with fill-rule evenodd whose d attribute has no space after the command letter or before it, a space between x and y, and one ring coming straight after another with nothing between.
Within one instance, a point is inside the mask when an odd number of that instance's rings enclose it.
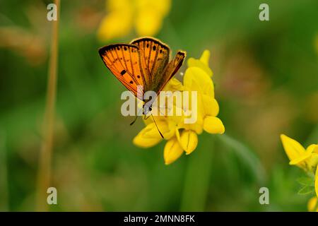
<instances>
[{"instance_id":1,"label":"orange butterfly with black-spotted wings perched on yellow flower","mask_svg":"<svg viewBox=\"0 0 318 226\"><path fill-rule=\"evenodd\" d=\"M129 44L110 44L101 47L98 52L114 76L145 102L143 114L151 112L155 101L143 100L143 94L152 90L158 96L186 57L186 52L178 51L170 61L170 47L153 37L141 37ZM138 89L139 85L142 90Z\"/></svg>"}]
</instances>

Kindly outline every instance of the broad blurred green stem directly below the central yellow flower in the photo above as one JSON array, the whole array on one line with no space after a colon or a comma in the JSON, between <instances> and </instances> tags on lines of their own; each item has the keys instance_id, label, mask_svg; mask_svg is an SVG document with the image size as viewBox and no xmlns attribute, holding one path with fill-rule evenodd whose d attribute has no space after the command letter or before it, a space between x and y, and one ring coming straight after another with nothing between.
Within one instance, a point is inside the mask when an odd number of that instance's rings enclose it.
<instances>
[{"instance_id":1,"label":"broad blurred green stem directly below the central yellow flower","mask_svg":"<svg viewBox=\"0 0 318 226\"><path fill-rule=\"evenodd\" d=\"M211 176L214 141L189 156L181 211L204 211Z\"/></svg>"}]
</instances>

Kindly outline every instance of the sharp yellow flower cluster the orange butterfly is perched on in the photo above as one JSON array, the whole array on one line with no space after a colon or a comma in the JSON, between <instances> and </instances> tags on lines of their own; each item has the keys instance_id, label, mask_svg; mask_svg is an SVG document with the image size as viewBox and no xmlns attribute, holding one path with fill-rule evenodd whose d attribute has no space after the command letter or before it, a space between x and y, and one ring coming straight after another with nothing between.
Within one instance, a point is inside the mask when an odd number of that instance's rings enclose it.
<instances>
[{"instance_id":1,"label":"sharp yellow flower cluster the orange butterfly is perched on","mask_svg":"<svg viewBox=\"0 0 318 226\"><path fill-rule=\"evenodd\" d=\"M191 99L192 95L189 94L189 105L183 106L183 109L178 109L177 106L173 106L172 109L166 109L166 111L182 112L181 116L155 116L155 122L158 125L163 137L167 140L163 151L163 157L165 164L169 165L175 162L182 153L189 155L192 153L198 145L198 134L202 131L208 133L224 133L225 128L220 119L218 119L218 102L214 97L214 85L211 79L213 75L211 69L208 66L208 60L210 52L204 51L200 59L188 60L188 69L184 73L183 85L177 79L167 83L164 90L175 91L189 91L192 93L196 91L197 102L194 107L197 108L197 119L192 124L186 124L184 119L187 118L186 112L191 112ZM185 108L185 109L184 109ZM154 107L153 107L154 109ZM145 120L146 127L142 129L139 134L134 138L134 144L142 148L148 148L158 144L163 140L155 126L153 119L148 118Z\"/></svg>"}]
</instances>

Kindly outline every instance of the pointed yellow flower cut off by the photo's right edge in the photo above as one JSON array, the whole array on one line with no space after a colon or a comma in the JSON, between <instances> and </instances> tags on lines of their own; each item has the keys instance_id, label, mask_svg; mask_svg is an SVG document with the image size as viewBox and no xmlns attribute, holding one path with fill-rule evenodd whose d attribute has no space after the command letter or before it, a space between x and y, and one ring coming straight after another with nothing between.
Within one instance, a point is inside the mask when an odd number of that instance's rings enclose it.
<instances>
[{"instance_id":1,"label":"pointed yellow flower cut off by the photo's right edge","mask_svg":"<svg viewBox=\"0 0 318 226\"><path fill-rule=\"evenodd\" d=\"M297 165L306 172L314 174L314 189L318 196L318 145L312 144L305 149L298 141L281 134L281 141L290 165Z\"/></svg>"}]
</instances>

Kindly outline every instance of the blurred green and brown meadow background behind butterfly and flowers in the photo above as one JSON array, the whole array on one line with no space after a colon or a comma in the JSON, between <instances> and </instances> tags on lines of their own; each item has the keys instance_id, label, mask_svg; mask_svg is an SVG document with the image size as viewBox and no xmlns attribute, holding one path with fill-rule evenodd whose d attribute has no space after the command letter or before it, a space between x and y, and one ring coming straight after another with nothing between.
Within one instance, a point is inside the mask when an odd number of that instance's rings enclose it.
<instances>
[{"instance_id":1,"label":"blurred green and brown meadow background behind butterfly and flowers","mask_svg":"<svg viewBox=\"0 0 318 226\"><path fill-rule=\"evenodd\" d=\"M36 209L47 92L51 1L0 0L0 210ZM259 4L269 4L269 21ZM173 0L158 37L188 57L211 51L225 136L203 133L191 155L166 166L164 142L141 149L143 128L120 114L124 87L98 48L105 1L61 1L52 186L58 211L306 211L304 173L280 133L318 138L318 1ZM184 71L184 66L181 71ZM259 204L259 188L270 204Z\"/></svg>"}]
</instances>

